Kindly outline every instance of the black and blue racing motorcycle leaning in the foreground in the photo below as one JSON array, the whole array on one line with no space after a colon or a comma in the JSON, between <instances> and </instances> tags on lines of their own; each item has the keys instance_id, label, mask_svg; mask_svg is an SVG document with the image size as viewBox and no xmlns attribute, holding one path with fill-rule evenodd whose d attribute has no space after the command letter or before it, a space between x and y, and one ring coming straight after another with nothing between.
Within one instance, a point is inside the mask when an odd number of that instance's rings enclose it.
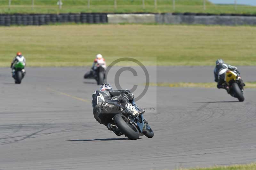
<instances>
[{"instance_id":1,"label":"black and blue racing motorcycle leaning in the foreground","mask_svg":"<svg viewBox=\"0 0 256 170\"><path fill-rule=\"evenodd\" d=\"M140 110L134 100L130 101L136 110ZM118 101L108 100L100 105L101 113L112 117L120 132L131 140L138 139L145 135L148 138L154 136L153 130L144 119L143 115L133 116L131 112L125 109Z\"/></svg>"}]
</instances>

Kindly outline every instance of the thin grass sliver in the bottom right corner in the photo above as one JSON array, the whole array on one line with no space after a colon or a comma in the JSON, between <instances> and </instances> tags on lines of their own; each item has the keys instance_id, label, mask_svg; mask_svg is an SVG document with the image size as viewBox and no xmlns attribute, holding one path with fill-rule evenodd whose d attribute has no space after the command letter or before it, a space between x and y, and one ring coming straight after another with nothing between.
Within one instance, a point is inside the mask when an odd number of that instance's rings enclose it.
<instances>
[{"instance_id":1,"label":"thin grass sliver in the bottom right corner","mask_svg":"<svg viewBox=\"0 0 256 170\"><path fill-rule=\"evenodd\" d=\"M209 168L189 168L189 169L180 168L179 170L255 170L255 169L256 169L256 163L244 164L244 165L231 165L231 166L213 166Z\"/></svg>"}]
</instances>

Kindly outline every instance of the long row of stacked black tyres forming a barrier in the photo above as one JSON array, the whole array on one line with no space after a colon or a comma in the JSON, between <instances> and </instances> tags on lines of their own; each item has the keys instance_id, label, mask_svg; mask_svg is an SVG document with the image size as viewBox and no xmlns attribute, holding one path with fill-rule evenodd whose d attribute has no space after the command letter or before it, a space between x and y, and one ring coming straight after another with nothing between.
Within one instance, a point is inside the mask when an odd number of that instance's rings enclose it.
<instances>
[{"instance_id":1,"label":"long row of stacked black tyres forming a barrier","mask_svg":"<svg viewBox=\"0 0 256 170\"><path fill-rule=\"evenodd\" d=\"M107 23L106 13L0 14L0 26L48 25L54 23Z\"/></svg>"}]
</instances>

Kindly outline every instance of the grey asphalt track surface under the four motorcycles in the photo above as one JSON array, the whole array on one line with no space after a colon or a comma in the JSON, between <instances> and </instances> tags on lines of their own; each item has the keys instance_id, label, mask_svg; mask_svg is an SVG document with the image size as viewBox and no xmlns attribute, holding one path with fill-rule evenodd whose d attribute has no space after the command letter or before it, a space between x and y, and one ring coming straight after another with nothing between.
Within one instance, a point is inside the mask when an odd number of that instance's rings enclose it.
<instances>
[{"instance_id":1,"label":"grey asphalt track surface under the four motorcycles","mask_svg":"<svg viewBox=\"0 0 256 170\"><path fill-rule=\"evenodd\" d=\"M158 67L156 73L148 67L161 82L212 81L212 69ZM255 67L240 70L244 81L256 80ZM1 170L174 169L256 161L256 89L245 89L241 103L225 90L152 88L137 104L156 108L144 114L155 136L131 141L94 119L91 95L98 86L83 79L86 71L31 67L16 85L10 68L0 68ZM129 73L124 77L129 87L139 82Z\"/></svg>"}]
</instances>

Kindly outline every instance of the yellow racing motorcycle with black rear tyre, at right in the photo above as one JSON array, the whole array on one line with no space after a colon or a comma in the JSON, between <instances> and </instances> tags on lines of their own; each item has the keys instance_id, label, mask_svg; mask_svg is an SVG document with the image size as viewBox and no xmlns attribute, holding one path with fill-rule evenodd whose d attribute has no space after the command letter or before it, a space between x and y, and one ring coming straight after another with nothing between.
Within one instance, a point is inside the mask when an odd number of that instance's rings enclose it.
<instances>
[{"instance_id":1,"label":"yellow racing motorcycle with black rear tyre, at right","mask_svg":"<svg viewBox=\"0 0 256 170\"><path fill-rule=\"evenodd\" d=\"M225 84L228 85L230 91L229 94L238 98L240 102L244 101L244 87L239 83L241 77L234 71L227 70L225 75Z\"/></svg>"}]
</instances>

